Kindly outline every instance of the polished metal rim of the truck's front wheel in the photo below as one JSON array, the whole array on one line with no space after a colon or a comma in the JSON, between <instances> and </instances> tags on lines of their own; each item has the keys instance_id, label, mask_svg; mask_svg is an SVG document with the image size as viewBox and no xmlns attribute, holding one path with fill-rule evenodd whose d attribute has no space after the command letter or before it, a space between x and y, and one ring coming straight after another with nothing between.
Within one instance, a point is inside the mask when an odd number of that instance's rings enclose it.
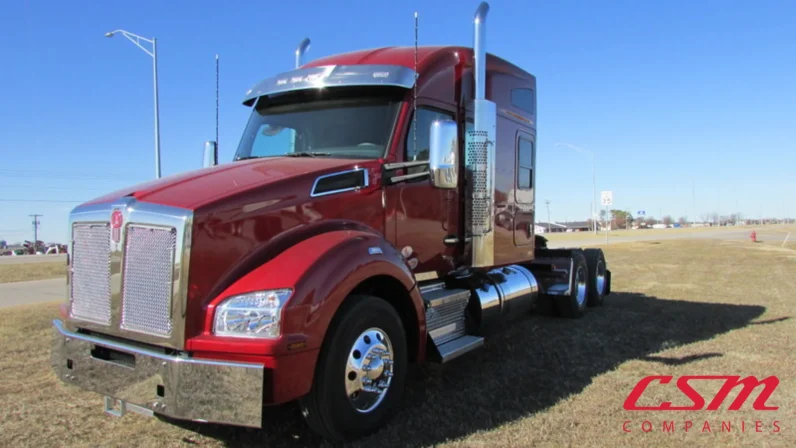
<instances>
[{"instance_id":1,"label":"polished metal rim of the truck's front wheel","mask_svg":"<svg viewBox=\"0 0 796 448\"><path fill-rule=\"evenodd\" d=\"M344 380L348 401L357 412L371 412L384 400L392 383L392 354L390 338L380 328L369 328L354 341Z\"/></svg>"}]
</instances>

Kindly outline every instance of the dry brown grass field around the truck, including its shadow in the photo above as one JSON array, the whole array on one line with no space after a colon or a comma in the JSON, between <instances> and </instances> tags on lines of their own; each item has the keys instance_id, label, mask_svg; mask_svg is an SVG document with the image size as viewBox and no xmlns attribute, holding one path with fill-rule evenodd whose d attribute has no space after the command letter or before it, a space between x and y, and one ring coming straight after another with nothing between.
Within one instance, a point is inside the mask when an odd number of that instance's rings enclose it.
<instances>
[{"instance_id":1,"label":"dry brown grass field around the truck, including its shadow","mask_svg":"<svg viewBox=\"0 0 796 448\"><path fill-rule=\"evenodd\" d=\"M356 445L796 446L796 251L719 240L605 250L614 293L603 308L577 321L529 316L480 352L415 369L403 409ZM48 364L55 316L54 304L0 310L1 446L322 444L291 406L269 410L261 431L110 417L101 397L56 382ZM738 411L727 410L736 392L716 411L624 410L648 375L775 375L768 404L779 410L751 408L760 388ZM707 400L720 386L691 384ZM650 385L639 405L662 401L689 404L672 381Z\"/></svg>"}]
</instances>

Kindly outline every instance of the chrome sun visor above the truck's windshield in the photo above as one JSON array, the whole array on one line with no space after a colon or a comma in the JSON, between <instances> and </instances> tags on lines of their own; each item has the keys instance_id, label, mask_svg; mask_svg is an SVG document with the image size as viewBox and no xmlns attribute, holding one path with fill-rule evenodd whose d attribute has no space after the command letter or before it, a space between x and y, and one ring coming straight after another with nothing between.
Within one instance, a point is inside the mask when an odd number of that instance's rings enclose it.
<instances>
[{"instance_id":1,"label":"chrome sun visor above the truck's windshield","mask_svg":"<svg viewBox=\"0 0 796 448\"><path fill-rule=\"evenodd\" d=\"M395 86L410 89L416 72L408 67L387 64L325 65L280 73L266 78L246 92L243 104L267 95L307 89L347 86Z\"/></svg>"}]
</instances>

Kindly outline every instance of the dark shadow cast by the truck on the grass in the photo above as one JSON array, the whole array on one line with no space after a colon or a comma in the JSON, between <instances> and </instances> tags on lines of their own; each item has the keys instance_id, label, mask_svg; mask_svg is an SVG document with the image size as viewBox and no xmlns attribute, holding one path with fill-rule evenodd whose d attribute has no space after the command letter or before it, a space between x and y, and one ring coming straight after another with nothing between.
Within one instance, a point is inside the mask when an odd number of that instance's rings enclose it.
<instances>
[{"instance_id":1,"label":"dark shadow cast by the truck on the grass","mask_svg":"<svg viewBox=\"0 0 796 448\"><path fill-rule=\"evenodd\" d=\"M543 412L631 359L683 364L650 354L748 325L762 306L661 300L615 292L579 320L531 316L487 337L483 349L412 371L404 404L389 425L353 446L423 446L489 430ZM262 430L180 424L230 446L327 445L296 406L269 408Z\"/></svg>"}]
</instances>

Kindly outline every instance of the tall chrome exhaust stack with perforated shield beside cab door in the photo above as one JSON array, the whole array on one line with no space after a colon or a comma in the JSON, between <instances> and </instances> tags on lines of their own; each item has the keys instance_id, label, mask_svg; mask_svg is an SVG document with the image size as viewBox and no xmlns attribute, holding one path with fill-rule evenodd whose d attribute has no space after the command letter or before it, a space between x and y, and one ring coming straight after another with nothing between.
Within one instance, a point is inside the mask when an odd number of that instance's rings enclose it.
<instances>
[{"instance_id":1,"label":"tall chrome exhaust stack with perforated shield beside cab door","mask_svg":"<svg viewBox=\"0 0 796 448\"><path fill-rule=\"evenodd\" d=\"M473 19L475 97L473 130L466 135L466 164L470 176L467 237L471 243L471 266L494 265L495 136L497 108L486 99L486 16L489 4L481 2Z\"/></svg>"}]
</instances>

